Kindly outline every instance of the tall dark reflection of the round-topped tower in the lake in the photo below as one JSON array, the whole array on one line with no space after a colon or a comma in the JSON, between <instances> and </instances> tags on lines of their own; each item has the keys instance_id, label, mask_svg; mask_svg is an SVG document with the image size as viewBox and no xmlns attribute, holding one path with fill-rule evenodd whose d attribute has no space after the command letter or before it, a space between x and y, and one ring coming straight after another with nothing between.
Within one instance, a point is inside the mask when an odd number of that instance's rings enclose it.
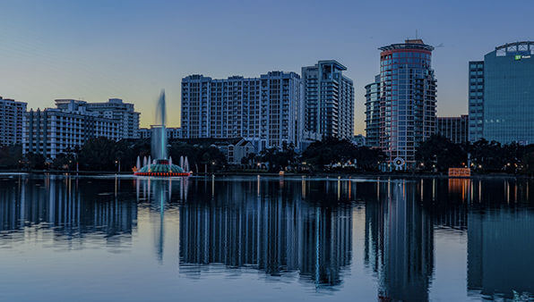
<instances>
[{"instance_id":1,"label":"tall dark reflection of the round-topped tower in the lake","mask_svg":"<svg viewBox=\"0 0 534 302\"><path fill-rule=\"evenodd\" d=\"M417 186L403 180L377 184L366 202L365 261L383 300L428 299L434 270L434 224L421 206Z\"/></svg>"}]
</instances>

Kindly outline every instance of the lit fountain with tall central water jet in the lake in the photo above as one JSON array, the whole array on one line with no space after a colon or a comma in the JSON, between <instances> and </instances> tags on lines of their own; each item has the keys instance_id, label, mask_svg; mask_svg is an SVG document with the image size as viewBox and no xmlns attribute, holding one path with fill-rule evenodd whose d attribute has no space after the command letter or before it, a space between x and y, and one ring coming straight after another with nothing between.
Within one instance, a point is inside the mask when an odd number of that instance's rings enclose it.
<instances>
[{"instance_id":1,"label":"lit fountain with tall central water jet in the lake","mask_svg":"<svg viewBox=\"0 0 534 302\"><path fill-rule=\"evenodd\" d=\"M151 160L149 155L148 163L141 169L134 172L138 176L189 176L189 172L176 164L172 164L172 159L167 156L167 131L165 130L165 91L161 91L158 99L158 110L156 111L156 126L152 126L151 155L155 158ZM139 163L139 159L138 159Z\"/></svg>"}]
</instances>

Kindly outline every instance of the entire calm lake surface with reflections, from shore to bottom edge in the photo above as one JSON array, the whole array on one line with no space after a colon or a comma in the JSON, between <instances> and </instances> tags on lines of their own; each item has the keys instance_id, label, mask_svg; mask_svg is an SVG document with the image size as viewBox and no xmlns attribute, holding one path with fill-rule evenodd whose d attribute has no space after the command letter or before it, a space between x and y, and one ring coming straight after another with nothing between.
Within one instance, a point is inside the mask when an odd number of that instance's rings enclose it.
<instances>
[{"instance_id":1,"label":"entire calm lake surface with reflections, from shore to bottom edge","mask_svg":"<svg viewBox=\"0 0 534 302\"><path fill-rule=\"evenodd\" d=\"M533 185L0 175L0 300L528 300Z\"/></svg>"}]
</instances>

